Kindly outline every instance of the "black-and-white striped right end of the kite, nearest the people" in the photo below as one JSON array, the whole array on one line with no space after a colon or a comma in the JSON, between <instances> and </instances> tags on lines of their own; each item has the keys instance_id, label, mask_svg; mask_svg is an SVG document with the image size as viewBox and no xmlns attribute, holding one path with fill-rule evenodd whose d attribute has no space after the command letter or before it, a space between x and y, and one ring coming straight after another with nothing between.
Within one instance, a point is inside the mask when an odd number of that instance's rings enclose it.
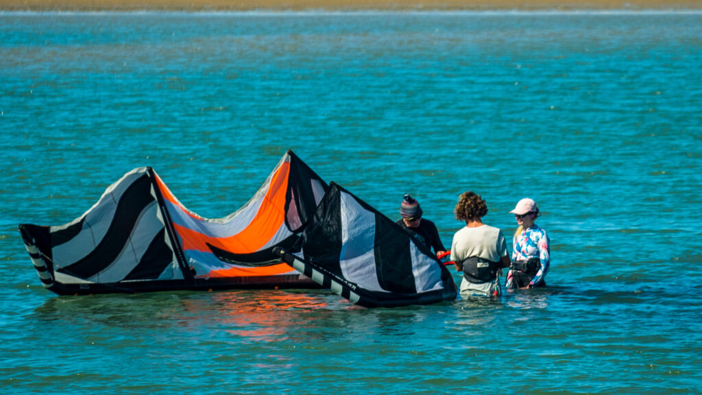
<instances>
[{"instance_id":1,"label":"black-and-white striped right end of the kite, nearest the people","mask_svg":"<svg viewBox=\"0 0 702 395\"><path fill-rule=\"evenodd\" d=\"M448 269L387 216L331 183L284 260L320 285L366 307L431 304L456 299Z\"/></svg>"}]
</instances>

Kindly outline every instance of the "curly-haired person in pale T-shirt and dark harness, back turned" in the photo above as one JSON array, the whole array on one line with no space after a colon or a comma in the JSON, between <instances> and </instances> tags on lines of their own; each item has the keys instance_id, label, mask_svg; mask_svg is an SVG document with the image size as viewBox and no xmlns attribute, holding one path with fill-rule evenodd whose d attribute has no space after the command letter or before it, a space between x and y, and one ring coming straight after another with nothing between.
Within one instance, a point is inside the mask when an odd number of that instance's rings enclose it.
<instances>
[{"instance_id":1,"label":"curly-haired person in pale T-shirt and dark harness, back turned","mask_svg":"<svg viewBox=\"0 0 702 395\"><path fill-rule=\"evenodd\" d=\"M482 221L487 202L469 190L458 197L455 212L465 221L451 242L451 261L463 271L461 296L500 296L499 274L510 266L510 257L502 231Z\"/></svg>"}]
</instances>

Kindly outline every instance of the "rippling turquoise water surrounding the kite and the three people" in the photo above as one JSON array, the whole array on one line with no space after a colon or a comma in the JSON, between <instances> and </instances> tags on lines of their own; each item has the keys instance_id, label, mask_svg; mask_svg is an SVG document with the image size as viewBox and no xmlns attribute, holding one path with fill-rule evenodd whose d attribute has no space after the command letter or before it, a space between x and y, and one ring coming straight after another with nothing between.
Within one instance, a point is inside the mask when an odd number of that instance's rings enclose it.
<instances>
[{"instance_id":1,"label":"rippling turquoise water surrounding the kite and the three people","mask_svg":"<svg viewBox=\"0 0 702 395\"><path fill-rule=\"evenodd\" d=\"M701 394L700 65L694 12L0 13L0 393ZM58 297L18 235L143 165L225 216L287 149L446 245L533 197L550 286Z\"/></svg>"}]
</instances>

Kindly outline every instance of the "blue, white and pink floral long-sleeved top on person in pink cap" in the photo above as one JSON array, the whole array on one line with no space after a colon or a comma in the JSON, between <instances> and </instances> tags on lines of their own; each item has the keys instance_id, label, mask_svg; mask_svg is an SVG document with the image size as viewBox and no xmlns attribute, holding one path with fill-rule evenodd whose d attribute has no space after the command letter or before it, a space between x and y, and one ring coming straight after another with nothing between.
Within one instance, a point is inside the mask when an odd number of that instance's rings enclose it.
<instances>
[{"instance_id":1,"label":"blue, white and pink floral long-sleeved top on person in pink cap","mask_svg":"<svg viewBox=\"0 0 702 395\"><path fill-rule=\"evenodd\" d=\"M536 258L541 261L541 268L536 276L531 279L529 287L536 287L543 282L543 279L550 268L550 247L546 231L534 224L530 228L524 229L512 241L512 261L527 261L529 258ZM512 273L509 273L510 275ZM512 285L512 276L507 276L507 287Z\"/></svg>"}]
</instances>

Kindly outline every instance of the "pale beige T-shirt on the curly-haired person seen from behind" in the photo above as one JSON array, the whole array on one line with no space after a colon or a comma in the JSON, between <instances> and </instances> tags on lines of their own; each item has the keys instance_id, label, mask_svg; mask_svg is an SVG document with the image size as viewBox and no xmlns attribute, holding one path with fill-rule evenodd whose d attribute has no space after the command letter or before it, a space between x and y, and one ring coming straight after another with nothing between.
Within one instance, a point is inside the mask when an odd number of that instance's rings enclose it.
<instances>
[{"instance_id":1,"label":"pale beige T-shirt on the curly-haired person seen from behind","mask_svg":"<svg viewBox=\"0 0 702 395\"><path fill-rule=\"evenodd\" d=\"M505 236L499 228L483 225L477 228L464 226L453 235L451 261L461 262L468 257L481 257L499 262L507 256Z\"/></svg>"}]
</instances>

